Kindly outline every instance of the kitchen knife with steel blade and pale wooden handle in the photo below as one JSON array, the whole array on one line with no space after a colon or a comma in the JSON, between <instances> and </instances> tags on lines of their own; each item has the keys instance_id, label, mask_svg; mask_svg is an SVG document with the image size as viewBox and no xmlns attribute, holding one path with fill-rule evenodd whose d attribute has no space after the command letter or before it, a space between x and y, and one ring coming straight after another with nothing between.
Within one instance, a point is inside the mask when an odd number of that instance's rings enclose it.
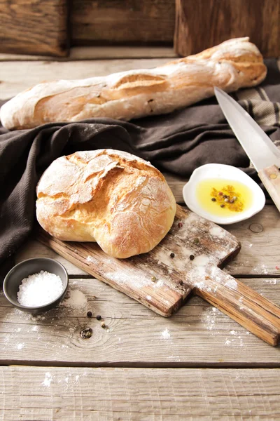
<instances>
[{"instance_id":1,"label":"kitchen knife with steel blade and pale wooden handle","mask_svg":"<svg viewBox=\"0 0 280 421\"><path fill-rule=\"evenodd\" d=\"M258 171L258 176L280 212L280 150L233 98L214 88L218 104L233 133Z\"/></svg>"}]
</instances>

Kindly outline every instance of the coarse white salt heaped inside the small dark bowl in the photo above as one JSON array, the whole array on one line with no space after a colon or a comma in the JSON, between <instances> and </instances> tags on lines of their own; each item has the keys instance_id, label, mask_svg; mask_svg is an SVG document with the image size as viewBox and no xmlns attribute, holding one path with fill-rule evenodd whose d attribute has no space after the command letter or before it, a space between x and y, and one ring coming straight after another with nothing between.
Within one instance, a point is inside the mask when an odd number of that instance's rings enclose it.
<instances>
[{"instance_id":1,"label":"coarse white salt heaped inside the small dark bowl","mask_svg":"<svg viewBox=\"0 0 280 421\"><path fill-rule=\"evenodd\" d=\"M62 294L62 280L55 274L41 270L38 274L22 279L18 290L18 302L25 307L49 304Z\"/></svg>"}]
</instances>

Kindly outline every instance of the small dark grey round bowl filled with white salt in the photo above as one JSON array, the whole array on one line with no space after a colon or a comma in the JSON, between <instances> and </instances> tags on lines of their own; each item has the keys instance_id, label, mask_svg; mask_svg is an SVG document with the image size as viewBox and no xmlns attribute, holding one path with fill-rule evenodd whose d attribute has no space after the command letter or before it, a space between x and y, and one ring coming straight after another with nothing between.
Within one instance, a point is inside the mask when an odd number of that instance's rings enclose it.
<instances>
[{"instance_id":1,"label":"small dark grey round bowl filled with white salt","mask_svg":"<svg viewBox=\"0 0 280 421\"><path fill-rule=\"evenodd\" d=\"M23 312L39 314L64 298L68 282L66 269L57 260L28 259L10 269L3 281L3 293Z\"/></svg>"}]
</instances>

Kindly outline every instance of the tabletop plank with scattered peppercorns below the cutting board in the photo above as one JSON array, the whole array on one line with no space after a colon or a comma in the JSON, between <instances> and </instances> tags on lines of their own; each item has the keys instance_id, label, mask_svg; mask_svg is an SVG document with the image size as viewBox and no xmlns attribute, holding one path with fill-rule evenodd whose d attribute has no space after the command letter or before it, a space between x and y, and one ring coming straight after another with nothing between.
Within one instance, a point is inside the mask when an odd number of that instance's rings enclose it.
<instances>
[{"instance_id":1,"label":"tabletop plank with scattered peppercorns below the cutting board","mask_svg":"<svg viewBox=\"0 0 280 421\"><path fill-rule=\"evenodd\" d=\"M279 305L279 278L242 281ZM201 298L165 319L96 279L71 279L69 293L76 295L74 307L64 301L36 317L0 293L0 364L280 367L279 347L255 338ZM92 328L90 339L80 337L85 327Z\"/></svg>"}]
</instances>

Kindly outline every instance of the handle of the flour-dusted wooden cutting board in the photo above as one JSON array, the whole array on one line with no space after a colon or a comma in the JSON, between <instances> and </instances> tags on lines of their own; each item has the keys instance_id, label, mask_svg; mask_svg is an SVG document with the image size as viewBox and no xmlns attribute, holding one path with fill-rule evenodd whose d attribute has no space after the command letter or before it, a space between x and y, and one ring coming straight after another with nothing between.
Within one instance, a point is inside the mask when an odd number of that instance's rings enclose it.
<instances>
[{"instance_id":1,"label":"handle of the flour-dusted wooden cutting board","mask_svg":"<svg viewBox=\"0 0 280 421\"><path fill-rule=\"evenodd\" d=\"M241 326L250 330L269 345L278 345L280 339L280 307L262 297L241 281L212 267L195 293L228 314Z\"/></svg>"}]
</instances>

